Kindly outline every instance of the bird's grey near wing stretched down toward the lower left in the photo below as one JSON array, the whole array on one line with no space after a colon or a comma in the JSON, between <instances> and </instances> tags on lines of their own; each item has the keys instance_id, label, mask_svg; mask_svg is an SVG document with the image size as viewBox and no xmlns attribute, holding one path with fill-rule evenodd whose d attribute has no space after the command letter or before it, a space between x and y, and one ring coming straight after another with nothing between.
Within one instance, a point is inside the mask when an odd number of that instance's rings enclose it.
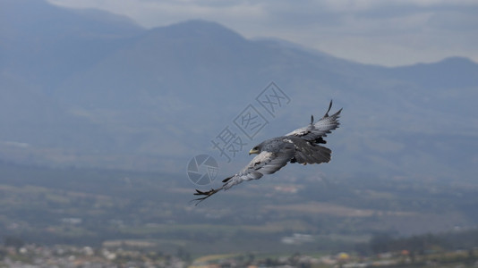
<instances>
[{"instance_id":1,"label":"bird's grey near wing stretched down toward the lower left","mask_svg":"<svg viewBox=\"0 0 478 268\"><path fill-rule=\"evenodd\" d=\"M204 197L196 198L192 201L197 201L196 205L198 205L201 201L216 194L222 189L226 190L243 181L258 180L264 174L277 172L285 166L295 154L295 147L291 142L277 140L277 147L280 148L277 153L263 151L259 155L256 155L241 172L223 180L222 182L224 184L221 187L211 188L209 191L200 191L196 189L194 195Z\"/></svg>"}]
</instances>

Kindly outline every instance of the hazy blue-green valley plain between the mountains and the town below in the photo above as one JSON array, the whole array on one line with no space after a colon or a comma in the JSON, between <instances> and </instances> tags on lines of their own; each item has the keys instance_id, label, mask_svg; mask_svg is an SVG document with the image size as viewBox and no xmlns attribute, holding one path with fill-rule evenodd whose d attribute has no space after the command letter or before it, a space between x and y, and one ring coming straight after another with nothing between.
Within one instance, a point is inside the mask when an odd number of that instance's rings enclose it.
<instances>
[{"instance_id":1,"label":"hazy blue-green valley plain between the mountains and the town below","mask_svg":"<svg viewBox=\"0 0 478 268\"><path fill-rule=\"evenodd\" d=\"M253 181L194 206L195 186L169 174L8 164L0 174L1 235L44 245L140 241L192 255L314 254L354 251L377 234L406 238L478 223L478 187L453 181L278 178L297 190Z\"/></svg>"}]
</instances>

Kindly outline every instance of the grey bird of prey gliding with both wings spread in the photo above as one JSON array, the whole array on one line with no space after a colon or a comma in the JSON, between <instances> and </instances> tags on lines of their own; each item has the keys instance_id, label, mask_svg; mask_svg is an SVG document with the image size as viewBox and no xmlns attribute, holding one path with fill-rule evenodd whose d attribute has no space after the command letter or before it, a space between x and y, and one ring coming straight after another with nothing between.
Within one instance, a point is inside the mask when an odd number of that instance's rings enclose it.
<instances>
[{"instance_id":1,"label":"grey bird of prey gliding with both wings spread","mask_svg":"<svg viewBox=\"0 0 478 268\"><path fill-rule=\"evenodd\" d=\"M323 139L332 130L338 128L340 124L338 117L342 109L337 113L329 115L332 108L332 101L329 104L327 113L317 122L313 122L303 128L294 130L286 136L269 138L264 140L249 151L249 155L257 154L246 165L241 172L226 178L219 188L211 188L209 191L200 191L196 189L196 196L204 196L192 201L198 201L196 205L204 199L211 197L220 190L226 190L246 180L258 180L264 174L272 174L280 170L287 163L329 163L332 151L328 147L322 147L325 144Z\"/></svg>"}]
</instances>

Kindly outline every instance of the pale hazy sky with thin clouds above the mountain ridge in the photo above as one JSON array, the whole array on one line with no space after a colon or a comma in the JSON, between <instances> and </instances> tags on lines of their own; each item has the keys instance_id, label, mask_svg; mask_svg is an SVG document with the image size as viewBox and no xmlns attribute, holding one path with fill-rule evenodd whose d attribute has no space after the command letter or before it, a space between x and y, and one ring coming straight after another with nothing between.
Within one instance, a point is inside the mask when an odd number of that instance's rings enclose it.
<instances>
[{"instance_id":1,"label":"pale hazy sky with thin clouds above the mountain ridge","mask_svg":"<svg viewBox=\"0 0 478 268\"><path fill-rule=\"evenodd\" d=\"M361 63L459 55L478 62L477 0L48 0L124 14L142 26L218 21L246 38L282 38Z\"/></svg>"}]
</instances>

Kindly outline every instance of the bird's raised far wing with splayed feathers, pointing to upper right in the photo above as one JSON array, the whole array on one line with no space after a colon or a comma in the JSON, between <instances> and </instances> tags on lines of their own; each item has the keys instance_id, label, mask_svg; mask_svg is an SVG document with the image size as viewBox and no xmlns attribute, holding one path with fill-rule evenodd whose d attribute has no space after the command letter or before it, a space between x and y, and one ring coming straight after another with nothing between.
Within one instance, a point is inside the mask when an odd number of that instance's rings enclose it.
<instances>
[{"instance_id":1,"label":"bird's raised far wing with splayed feathers, pointing to upper right","mask_svg":"<svg viewBox=\"0 0 478 268\"><path fill-rule=\"evenodd\" d=\"M312 115L311 123L308 126L287 133L286 136L302 138L313 143L326 143L322 137L327 137L327 134L338 128L340 125L338 117L340 117L340 113L342 112L342 109L340 109L337 113L329 115L331 108L332 101L330 101L329 110L327 110L327 113L325 113L319 121L314 123Z\"/></svg>"}]
</instances>

